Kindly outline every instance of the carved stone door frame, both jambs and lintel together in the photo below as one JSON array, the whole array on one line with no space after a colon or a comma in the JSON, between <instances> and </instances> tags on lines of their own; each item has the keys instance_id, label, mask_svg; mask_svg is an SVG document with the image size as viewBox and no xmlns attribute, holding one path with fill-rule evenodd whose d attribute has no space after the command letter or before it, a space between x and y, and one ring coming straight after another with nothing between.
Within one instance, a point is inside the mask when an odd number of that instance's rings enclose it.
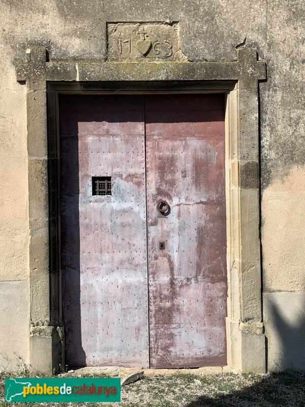
<instances>
[{"instance_id":1,"label":"carved stone door frame, both jambs and lintel together","mask_svg":"<svg viewBox=\"0 0 305 407\"><path fill-rule=\"evenodd\" d=\"M47 62L43 47L16 63L26 82L30 360L51 373L63 363L59 242L58 93L188 92L227 94L226 206L228 365L265 372L259 237L258 80L266 65L255 49L237 50L232 62Z\"/></svg>"}]
</instances>

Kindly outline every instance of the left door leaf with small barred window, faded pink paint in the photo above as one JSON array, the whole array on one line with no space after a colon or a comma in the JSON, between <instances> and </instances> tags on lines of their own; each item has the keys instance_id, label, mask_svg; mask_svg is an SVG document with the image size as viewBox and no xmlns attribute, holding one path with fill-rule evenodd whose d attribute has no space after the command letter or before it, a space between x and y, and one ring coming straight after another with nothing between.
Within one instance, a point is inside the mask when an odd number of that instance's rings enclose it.
<instances>
[{"instance_id":1,"label":"left door leaf with small barred window, faded pink paint","mask_svg":"<svg viewBox=\"0 0 305 407\"><path fill-rule=\"evenodd\" d=\"M142 96L60 97L63 318L70 366L149 364L143 113ZM107 177L107 184L111 177L111 189L99 185L107 191L95 195L97 177Z\"/></svg>"}]
</instances>

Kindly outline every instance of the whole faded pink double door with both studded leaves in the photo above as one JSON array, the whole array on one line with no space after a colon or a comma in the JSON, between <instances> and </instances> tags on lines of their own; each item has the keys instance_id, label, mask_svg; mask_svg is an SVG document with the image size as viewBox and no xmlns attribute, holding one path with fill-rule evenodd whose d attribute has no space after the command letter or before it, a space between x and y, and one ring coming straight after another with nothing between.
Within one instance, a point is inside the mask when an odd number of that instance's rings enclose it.
<instances>
[{"instance_id":1,"label":"whole faded pink double door with both studded leaves","mask_svg":"<svg viewBox=\"0 0 305 407\"><path fill-rule=\"evenodd\" d=\"M224 97L61 95L66 363L226 363Z\"/></svg>"}]
</instances>

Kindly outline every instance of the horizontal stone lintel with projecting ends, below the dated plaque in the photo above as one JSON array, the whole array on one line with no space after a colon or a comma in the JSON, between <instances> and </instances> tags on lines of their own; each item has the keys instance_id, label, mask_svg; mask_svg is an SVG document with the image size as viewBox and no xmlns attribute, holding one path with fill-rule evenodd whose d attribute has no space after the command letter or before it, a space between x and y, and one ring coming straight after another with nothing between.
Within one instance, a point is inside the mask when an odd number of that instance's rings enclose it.
<instances>
[{"instance_id":1,"label":"horizontal stone lintel with projecting ends, below the dated plaque","mask_svg":"<svg viewBox=\"0 0 305 407\"><path fill-rule=\"evenodd\" d=\"M238 81L239 89L257 89L266 78L266 64L256 49L237 50L237 61L189 62L142 59L116 62L47 62L46 48L28 50L27 61L16 63L18 81ZM149 61L149 62L147 62ZM151 61L151 62L150 62Z\"/></svg>"}]
</instances>

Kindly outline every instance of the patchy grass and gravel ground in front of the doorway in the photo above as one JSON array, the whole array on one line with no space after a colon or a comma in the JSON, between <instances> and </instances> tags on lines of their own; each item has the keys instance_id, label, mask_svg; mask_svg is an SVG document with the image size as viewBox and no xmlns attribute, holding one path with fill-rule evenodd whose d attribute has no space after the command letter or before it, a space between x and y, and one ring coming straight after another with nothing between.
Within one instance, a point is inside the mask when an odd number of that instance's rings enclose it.
<instances>
[{"instance_id":1,"label":"patchy grass and gravel ground in front of the doorway","mask_svg":"<svg viewBox=\"0 0 305 407\"><path fill-rule=\"evenodd\" d=\"M0 374L0 407L17 406L17 403L4 401L5 377L21 376L31 377L20 373ZM69 374L65 377L69 377ZM138 382L121 388L119 403L22 403L22 407L32 405L33 407L81 405L85 407L98 407L98 405L102 407L116 405L121 407L303 407L305 406L305 372L285 371L266 375L227 373L208 376L193 374L144 376Z\"/></svg>"}]
</instances>

